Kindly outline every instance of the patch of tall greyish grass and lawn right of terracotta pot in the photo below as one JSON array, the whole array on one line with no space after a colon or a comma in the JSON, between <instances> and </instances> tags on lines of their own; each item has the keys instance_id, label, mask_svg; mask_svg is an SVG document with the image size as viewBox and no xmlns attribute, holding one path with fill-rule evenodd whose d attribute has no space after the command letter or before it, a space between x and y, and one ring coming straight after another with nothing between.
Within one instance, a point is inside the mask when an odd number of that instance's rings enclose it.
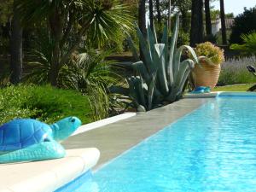
<instances>
[{"instance_id":1,"label":"patch of tall greyish grass and lawn right of terracotta pot","mask_svg":"<svg viewBox=\"0 0 256 192\"><path fill-rule=\"evenodd\" d=\"M251 84L256 82L256 77L247 71L247 66L256 67L255 57L244 57L240 59L231 59L224 61L221 73L218 79L218 85L227 84Z\"/></svg>"}]
</instances>

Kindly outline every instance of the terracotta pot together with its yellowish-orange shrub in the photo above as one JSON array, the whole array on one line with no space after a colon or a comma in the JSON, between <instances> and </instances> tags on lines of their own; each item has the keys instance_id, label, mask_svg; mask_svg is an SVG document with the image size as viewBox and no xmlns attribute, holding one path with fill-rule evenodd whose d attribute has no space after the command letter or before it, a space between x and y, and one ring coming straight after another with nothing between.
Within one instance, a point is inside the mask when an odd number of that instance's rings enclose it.
<instances>
[{"instance_id":1,"label":"terracotta pot together with its yellowish-orange shrub","mask_svg":"<svg viewBox=\"0 0 256 192\"><path fill-rule=\"evenodd\" d=\"M208 86L211 90L218 83L220 64L224 61L224 50L210 42L197 44L195 54L199 55L201 66L195 65L192 76L196 87Z\"/></svg>"}]
</instances>

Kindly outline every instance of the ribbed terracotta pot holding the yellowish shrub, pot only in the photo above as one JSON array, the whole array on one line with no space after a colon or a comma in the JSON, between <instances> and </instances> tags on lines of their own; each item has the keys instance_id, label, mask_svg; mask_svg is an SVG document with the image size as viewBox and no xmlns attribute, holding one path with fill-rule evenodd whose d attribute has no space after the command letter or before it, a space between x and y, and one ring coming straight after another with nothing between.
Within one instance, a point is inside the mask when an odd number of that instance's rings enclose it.
<instances>
[{"instance_id":1,"label":"ribbed terracotta pot holding the yellowish shrub, pot only","mask_svg":"<svg viewBox=\"0 0 256 192\"><path fill-rule=\"evenodd\" d=\"M192 70L195 86L209 86L211 90L218 83L220 65L212 66L207 62L201 62L201 67L195 65Z\"/></svg>"}]
</instances>

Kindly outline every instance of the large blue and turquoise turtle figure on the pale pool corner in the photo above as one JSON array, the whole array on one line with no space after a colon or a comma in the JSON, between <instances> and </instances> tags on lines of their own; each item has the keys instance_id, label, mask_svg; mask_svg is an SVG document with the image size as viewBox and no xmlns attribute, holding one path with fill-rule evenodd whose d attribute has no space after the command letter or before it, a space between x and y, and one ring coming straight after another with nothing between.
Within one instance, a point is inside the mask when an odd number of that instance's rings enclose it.
<instances>
[{"instance_id":1,"label":"large blue and turquoise turtle figure on the pale pool corner","mask_svg":"<svg viewBox=\"0 0 256 192\"><path fill-rule=\"evenodd\" d=\"M52 125L36 119L11 120L0 126L0 163L62 158L66 152L59 142L80 125L76 117L67 117Z\"/></svg>"}]
</instances>

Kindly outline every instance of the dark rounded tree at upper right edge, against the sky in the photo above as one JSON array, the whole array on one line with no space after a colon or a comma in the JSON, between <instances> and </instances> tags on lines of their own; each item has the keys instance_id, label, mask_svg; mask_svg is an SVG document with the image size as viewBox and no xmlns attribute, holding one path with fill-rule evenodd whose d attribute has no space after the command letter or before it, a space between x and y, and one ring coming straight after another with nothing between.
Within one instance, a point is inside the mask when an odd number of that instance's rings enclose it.
<instances>
[{"instance_id":1,"label":"dark rounded tree at upper right edge, against the sky","mask_svg":"<svg viewBox=\"0 0 256 192\"><path fill-rule=\"evenodd\" d=\"M244 9L241 15L235 18L232 33L230 35L230 44L242 44L242 34L248 34L256 31L256 7L252 9Z\"/></svg>"}]
</instances>

